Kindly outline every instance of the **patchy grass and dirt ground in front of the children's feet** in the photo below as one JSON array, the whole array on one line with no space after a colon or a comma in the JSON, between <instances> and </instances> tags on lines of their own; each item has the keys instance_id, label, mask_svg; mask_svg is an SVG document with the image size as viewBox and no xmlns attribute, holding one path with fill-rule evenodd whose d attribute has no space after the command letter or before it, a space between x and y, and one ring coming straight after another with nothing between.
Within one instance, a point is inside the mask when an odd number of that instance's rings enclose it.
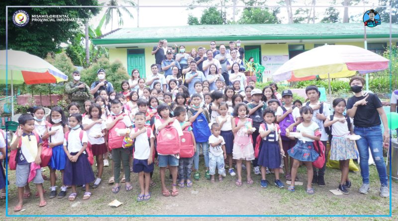
<instances>
[{"instance_id":1,"label":"patchy grass and dirt ground in front of the children's feet","mask_svg":"<svg viewBox=\"0 0 398 221\"><path fill-rule=\"evenodd\" d=\"M94 167L93 167L94 168ZM48 169L44 172L49 175ZM168 173L166 172L167 176ZM60 173L57 173L60 178ZM290 215L292 217L245 217L245 220L347 220L347 218L298 218L295 215L389 215L389 198L381 198L379 196L380 182L375 166L371 166L371 190L369 194L363 195L358 193L358 189L362 184L359 172L351 172L350 178L352 187L350 194L335 196L329 190L336 189L340 178L340 171L337 169L327 168L326 170L326 187L314 186L315 194L307 195L305 193L306 175L305 168L299 168L299 179L304 182L304 186L296 186L296 192L289 192L286 188L279 189L273 185L275 179L274 174L267 175L270 185L266 189L260 187L261 176L252 175L255 183L253 185L246 184L246 171L243 170L243 186L234 185L235 177L227 175L222 183L216 181L211 184L204 179L204 172L199 181L194 181L191 188L179 188L179 195L176 197L164 197L161 195L161 185L158 168L154 172L154 181L157 183L151 189L152 198L149 201L137 202L136 197L139 194L138 176L131 174L132 185L134 189L130 192L124 190L124 184L120 192L113 194L111 185L107 184L110 176L110 167L105 167L103 181L100 187L92 190L92 197L87 201L83 201L83 191L78 191L76 201L69 202L67 197L63 199L49 199L49 180L44 182L47 190L45 198L47 206L38 207L39 200L34 197L36 188L31 184L32 196L30 199L24 200L21 212L13 212L13 207L17 202L14 171L10 171L10 185L8 189L8 216L23 215L217 215L217 216L242 216L242 215ZM281 180L285 182L284 174L281 174ZM166 179L168 187L171 188L171 181ZM216 179L217 180L217 179ZM57 181L57 186L60 186ZM392 208L395 218L374 217L374 218L350 218L350 220L397 220L398 214L398 183L392 184ZM79 188L78 190L81 190ZM68 189L67 196L71 193ZM108 206L112 200L117 199L122 202L118 208ZM0 201L0 219L4 217L5 201ZM54 220L50 217L40 218L21 218L21 217L4 217L5 220ZM55 218L59 221L77 220L77 217L59 217ZM85 220L108 220L109 218L84 218ZM132 218L119 217L118 220L131 220ZM137 217L133 220L148 220L153 218ZM156 217L160 220L237 220L242 218L233 217Z\"/></svg>"}]
</instances>

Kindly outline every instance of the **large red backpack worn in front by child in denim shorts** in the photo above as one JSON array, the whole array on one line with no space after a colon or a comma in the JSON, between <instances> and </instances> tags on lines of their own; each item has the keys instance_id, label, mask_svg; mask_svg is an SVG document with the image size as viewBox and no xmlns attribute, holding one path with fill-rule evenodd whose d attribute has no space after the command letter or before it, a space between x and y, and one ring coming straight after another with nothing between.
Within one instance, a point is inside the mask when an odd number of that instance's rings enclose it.
<instances>
[{"instance_id":1,"label":"large red backpack worn in front by child in denim shorts","mask_svg":"<svg viewBox=\"0 0 398 221\"><path fill-rule=\"evenodd\" d=\"M163 124L165 121L160 119ZM165 128L159 131L156 136L157 151L163 155L171 155L180 153L180 136L178 131L172 125L167 125Z\"/></svg>"}]
</instances>

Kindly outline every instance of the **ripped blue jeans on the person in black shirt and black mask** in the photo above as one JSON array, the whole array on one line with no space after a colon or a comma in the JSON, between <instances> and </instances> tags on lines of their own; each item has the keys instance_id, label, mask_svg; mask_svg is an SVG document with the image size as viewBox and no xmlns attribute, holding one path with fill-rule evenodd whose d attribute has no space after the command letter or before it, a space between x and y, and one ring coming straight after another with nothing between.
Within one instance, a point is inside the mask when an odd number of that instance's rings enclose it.
<instances>
[{"instance_id":1,"label":"ripped blue jeans on the person in black shirt and black mask","mask_svg":"<svg viewBox=\"0 0 398 221\"><path fill-rule=\"evenodd\" d=\"M361 176L363 183L369 183L369 150L372 153L373 160L376 163L379 173L380 183L388 185L387 168L383 158L383 134L381 126L374 127L354 127L354 133L360 135L361 139L356 141L359 151L359 166L361 167Z\"/></svg>"}]
</instances>

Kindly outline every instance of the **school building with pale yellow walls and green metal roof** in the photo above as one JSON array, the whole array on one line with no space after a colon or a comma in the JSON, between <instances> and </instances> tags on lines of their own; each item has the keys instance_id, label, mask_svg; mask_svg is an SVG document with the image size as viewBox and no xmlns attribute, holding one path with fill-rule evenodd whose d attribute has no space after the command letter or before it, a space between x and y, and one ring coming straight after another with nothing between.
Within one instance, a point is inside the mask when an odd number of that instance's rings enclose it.
<instances>
[{"instance_id":1,"label":"school building with pale yellow walls and green metal roof","mask_svg":"<svg viewBox=\"0 0 398 221\"><path fill-rule=\"evenodd\" d=\"M190 25L119 28L92 41L109 49L110 62L119 60L130 75L135 68L145 77L155 63L151 52L160 39L166 39L168 46L184 45L186 53L198 47L207 50L210 41L215 41L217 46L225 44L228 49L229 41L241 40L245 59L253 57L265 66L267 76L289 58L324 44L364 48L364 33L364 23ZM368 50L383 53L389 46L390 25L366 27L366 40ZM398 24L392 25L392 42L397 47Z\"/></svg>"}]
</instances>

